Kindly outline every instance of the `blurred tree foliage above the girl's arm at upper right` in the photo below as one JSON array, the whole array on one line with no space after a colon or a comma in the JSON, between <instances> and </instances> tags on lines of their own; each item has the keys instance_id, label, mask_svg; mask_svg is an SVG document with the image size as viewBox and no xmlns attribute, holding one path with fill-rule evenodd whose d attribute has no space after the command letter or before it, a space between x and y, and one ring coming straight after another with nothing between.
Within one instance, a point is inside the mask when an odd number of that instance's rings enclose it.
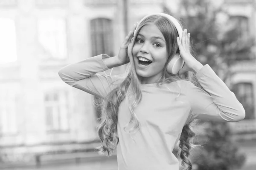
<instances>
[{"instance_id":1,"label":"blurred tree foliage above the girl's arm at upper right","mask_svg":"<svg viewBox=\"0 0 256 170\"><path fill-rule=\"evenodd\" d=\"M183 25L191 34L192 53L202 64L209 64L225 81L228 69L241 60L255 58L253 37L241 29L238 20L209 0L182 0Z\"/></svg>"}]
</instances>

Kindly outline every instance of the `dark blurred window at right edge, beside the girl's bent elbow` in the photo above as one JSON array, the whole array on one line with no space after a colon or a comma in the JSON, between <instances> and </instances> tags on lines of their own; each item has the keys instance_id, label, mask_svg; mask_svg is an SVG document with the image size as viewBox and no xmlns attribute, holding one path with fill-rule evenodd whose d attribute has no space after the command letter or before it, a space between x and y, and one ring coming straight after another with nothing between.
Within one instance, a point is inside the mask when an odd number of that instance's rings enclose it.
<instances>
[{"instance_id":1,"label":"dark blurred window at right edge, beside the girl's bent elbow","mask_svg":"<svg viewBox=\"0 0 256 170\"><path fill-rule=\"evenodd\" d=\"M240 101L245 109L245 118L244 119L254 119L254 92L253 85L251 83L239 83L233 86L232 90L236 98Z\"/></svg>"}]
</instances>

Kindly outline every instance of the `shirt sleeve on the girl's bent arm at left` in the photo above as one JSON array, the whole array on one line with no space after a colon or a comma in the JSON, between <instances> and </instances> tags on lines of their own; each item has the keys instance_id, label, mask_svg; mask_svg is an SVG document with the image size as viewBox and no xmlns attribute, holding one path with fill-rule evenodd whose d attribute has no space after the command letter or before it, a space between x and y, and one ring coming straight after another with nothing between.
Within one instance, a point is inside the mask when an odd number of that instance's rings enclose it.
<instances>
[{"instance_id":1,"label":"shirt sleeve on the girl's bent arm at left","mask_svg":"<svg viewBox=\"0 0 256 170\"><path fill-rule=\"evenodd\" d=\"M102 54L69 64L61 68L58 75L68 85L104 98L122 81L122 76L100 74L109 69L103 61L104 58L110 57Z\"/></svg>"}]
</instances>

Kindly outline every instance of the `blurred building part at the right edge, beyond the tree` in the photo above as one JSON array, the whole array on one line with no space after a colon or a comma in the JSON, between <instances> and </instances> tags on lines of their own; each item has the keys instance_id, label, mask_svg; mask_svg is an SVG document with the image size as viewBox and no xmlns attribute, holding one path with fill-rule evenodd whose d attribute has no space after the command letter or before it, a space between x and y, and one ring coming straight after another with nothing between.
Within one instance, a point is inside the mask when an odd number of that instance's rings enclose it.
<instances>
[{"instance_id":1,"label":"blurred building part at the right edge, beyond the tree","mask_svg":"<svg viewBox=\"0 0 256 170\"><path fill-rule=\"evenodd\" d=\"M239 26L241 38L255 38L255 0L225 0L224 6L230 15L230 20ZM256 42L254 40L254 42ZM243 104L246 116L243 121L230 123L235 140L256 139L256 51L253 56L236 54L237 63L231 68L230 89Z\"/></svg>"}]
</instances>

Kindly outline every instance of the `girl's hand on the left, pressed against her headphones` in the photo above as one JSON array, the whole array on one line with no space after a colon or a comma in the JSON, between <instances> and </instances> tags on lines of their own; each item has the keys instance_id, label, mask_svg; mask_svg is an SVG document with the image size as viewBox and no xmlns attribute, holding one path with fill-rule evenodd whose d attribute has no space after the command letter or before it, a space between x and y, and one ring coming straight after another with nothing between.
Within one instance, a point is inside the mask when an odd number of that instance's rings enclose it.
<instances>
[{"instance_id":1,"label":"girl's hand on the left, pressed against her headphones","mask_svg":"<svg viewBox=\"0 0 256 170\"><path fill-rule=\"evenodd\" d=\"M137 26L137 24L134 24L132 31L130 31L128 33L128 35L125 37L125 40L122 42L122 44L120 46L120 49L119 49L119 52L117 55L117 59L118 59L120 65L130 62L127 49L128 49L129 43L131 43L131 38L134 35L134 30L136 29L136 26Z\"/></svg>"}]
</instances>

